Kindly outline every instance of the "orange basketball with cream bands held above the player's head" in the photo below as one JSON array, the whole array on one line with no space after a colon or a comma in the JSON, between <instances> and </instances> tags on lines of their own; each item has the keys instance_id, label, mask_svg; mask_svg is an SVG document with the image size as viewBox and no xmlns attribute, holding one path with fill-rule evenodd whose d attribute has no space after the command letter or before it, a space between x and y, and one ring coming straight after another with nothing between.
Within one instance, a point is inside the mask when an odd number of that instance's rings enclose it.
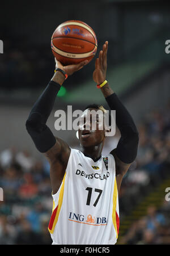
<instances>
[{"instance_id":1,"label":"orange basketball with cream bands held above the player's head","mask_svg":"<svg viewBox=\"0 0 170 256\"><path fill-rule=\"evenodd\" d=\"M79 20L68 20L60 24L52 35L52 52L64 65L92 60L97 51L94 30Z\"/></svg>"}]
</instances>

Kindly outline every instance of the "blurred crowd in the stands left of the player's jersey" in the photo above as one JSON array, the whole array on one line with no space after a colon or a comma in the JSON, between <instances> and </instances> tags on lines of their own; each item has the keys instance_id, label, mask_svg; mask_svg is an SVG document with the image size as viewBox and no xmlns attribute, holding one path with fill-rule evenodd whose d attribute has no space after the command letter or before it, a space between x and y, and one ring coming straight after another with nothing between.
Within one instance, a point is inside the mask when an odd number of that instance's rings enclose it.
<instances>
[{"instance_id":1,"label":"blurred crowd in the stands left of the player's jersey","mask_svg":"<svg viewBox=\"0 0 170 256\"><path fill-rule=\"evenodd\" d=\"M0 244L52 244L48 223L52 212L49 164L27 151L0 154Z\"/></svg>"}]
</instances>

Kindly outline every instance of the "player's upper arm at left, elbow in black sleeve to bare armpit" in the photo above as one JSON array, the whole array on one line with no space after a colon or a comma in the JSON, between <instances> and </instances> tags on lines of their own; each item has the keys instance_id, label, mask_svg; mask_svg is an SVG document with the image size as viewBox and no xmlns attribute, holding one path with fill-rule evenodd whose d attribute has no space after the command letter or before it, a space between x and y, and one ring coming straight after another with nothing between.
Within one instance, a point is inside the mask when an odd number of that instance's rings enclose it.
<instances>
[{"instance_id":1,"label":"player's upper arm at left, elbow in black sleeve to bare armpit","mask_svg":"<svg viewBox=\"0 0 170 256\"><path fill-rule=\"evenodd\" d=\"M65 175L71 149L63 140L55 138L52 131L44 123L39 112L29 115L26 128L36 148L44 153L50 163L50 180L53 192L57 192Z\"/></svg>"}]
</instances>

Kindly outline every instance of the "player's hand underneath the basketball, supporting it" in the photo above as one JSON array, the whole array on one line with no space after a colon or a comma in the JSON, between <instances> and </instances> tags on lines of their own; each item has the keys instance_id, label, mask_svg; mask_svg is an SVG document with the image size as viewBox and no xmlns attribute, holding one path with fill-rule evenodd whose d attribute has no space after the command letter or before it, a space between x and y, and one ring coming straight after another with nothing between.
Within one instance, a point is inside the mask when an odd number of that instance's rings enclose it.
<instances>
[{"instance_id":1,"label":"player's hand underneath the basketball, supporting it","mask_svg":"<svg viewBox=\"0 0 170 256\"><path fill-rule=\"evenodd\" d=\"M55 61L56 61L56 69L57 68L62 69L63 71L66 72L66 74L68 76L72 75L74 72L82 69L83 66L87 65L89 62L88 60L84 60L84 61L80 62L79 64L71 64L71 65L63 66L62 63L59 62L56 58L55 58Z\"/></svg>"}]
</instances>

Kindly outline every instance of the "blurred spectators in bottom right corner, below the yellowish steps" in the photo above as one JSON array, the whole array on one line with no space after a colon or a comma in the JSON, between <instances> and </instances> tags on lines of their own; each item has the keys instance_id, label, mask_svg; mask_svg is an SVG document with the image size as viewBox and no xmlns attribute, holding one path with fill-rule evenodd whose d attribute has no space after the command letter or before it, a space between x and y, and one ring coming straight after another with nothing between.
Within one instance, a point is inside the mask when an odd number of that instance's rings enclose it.
<instances>
[{"instance_id":1,"label":"blurred spectators in bottom right corner, below the yellowish steps","mask_svg":"<svg viewBox=\"0 0 170 256\"><path fill-rule=\"evenodd\" d=\"M147 208L147 215L134 221L121 244L169 245L170 244L170 202L164 200L162 207Z\"/></svg>"}]
</instances>

